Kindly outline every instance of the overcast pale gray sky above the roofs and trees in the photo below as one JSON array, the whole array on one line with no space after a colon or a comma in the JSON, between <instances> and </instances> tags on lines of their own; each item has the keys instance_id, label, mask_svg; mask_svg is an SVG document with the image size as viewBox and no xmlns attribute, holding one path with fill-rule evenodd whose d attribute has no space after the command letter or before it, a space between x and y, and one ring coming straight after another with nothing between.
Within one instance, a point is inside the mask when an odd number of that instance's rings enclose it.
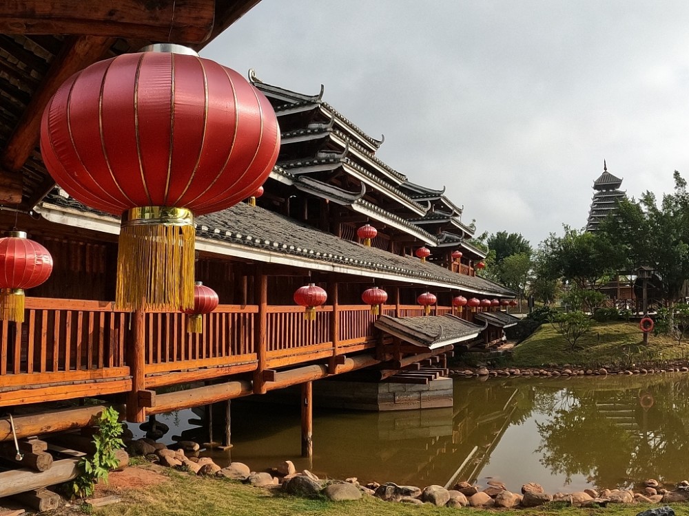
<instances>
[{"instance_id":1,"label":"overcast pale gray sky above the roofs and trees","mask_svg":"<svg viewBox=\"0 0 689 516\"><path fill-rule=\"evenodd\" d=\"M203 52L317 94L477 232L586 224L593 180L689 178L689 2L262 0Z\"/></svg>"}]
</instances>

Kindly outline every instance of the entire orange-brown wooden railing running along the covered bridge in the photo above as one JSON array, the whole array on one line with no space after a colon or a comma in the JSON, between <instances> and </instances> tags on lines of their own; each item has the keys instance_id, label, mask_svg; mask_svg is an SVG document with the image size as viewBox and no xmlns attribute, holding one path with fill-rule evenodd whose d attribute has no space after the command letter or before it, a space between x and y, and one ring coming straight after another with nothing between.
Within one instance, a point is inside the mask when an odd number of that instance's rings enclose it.
<instances>
[{"instance_id":1,"label":"entire orange-brown wooden railing running along the covered bridge","mask_svg":"<svg viewBox=\"0 0 689 516\"><path fill-rule=\"evenodd\" d=\"M331 305L318 308L316 320L307 321L302 307L267 306L267 368L376 345L376 316L369 306L338 305L336 310L337 321ZM431 313L450 310L433 307ZM384 305L382 314L422 316L423 308ZM143 359L136 365L143 370L145 388L256 370L257 316L256 305L220 305L203 316L203 333L189 334L185 314L145 314ZM113 310L112 303L28 298L25 319L23 324L0 322L0 406L132 388L127 356L135 334L132 314Z\"/></svg>"}]
</instances>

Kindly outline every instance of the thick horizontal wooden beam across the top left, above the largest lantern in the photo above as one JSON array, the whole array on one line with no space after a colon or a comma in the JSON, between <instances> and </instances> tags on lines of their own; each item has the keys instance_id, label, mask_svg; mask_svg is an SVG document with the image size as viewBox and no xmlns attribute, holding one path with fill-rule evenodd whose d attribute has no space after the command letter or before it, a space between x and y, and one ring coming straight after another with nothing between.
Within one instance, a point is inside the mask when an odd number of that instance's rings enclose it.
<instances>
[{"instance_id":1,"label":"thick horizontal wooden beam across the top left, above the largest lantern","mask_svg":"<svg viewBox=\"0 0 689 516\"><path fill-rule=\"evenodd\" d=\"M97 34L201 43L212 33L215 10L213 0L14 0L0 2L0 33Z\"/></svg>"}]
</instances>

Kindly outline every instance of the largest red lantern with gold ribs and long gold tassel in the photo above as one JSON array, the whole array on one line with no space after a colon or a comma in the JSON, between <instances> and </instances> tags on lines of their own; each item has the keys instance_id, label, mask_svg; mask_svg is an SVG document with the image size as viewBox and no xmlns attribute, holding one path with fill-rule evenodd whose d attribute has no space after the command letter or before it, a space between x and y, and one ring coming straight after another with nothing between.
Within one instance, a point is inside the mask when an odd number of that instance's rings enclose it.
<instances>
[{"instance_id":1,"label":"largest red lantern with gold ribs and long gold tassel","mask_svg":"<svg viewBox=\"0 0 689 516\"><path fill-rule=\"evenodd\" d=\"M193 308L194 215L249 197L280 149L275 113L258 89L192 50L164 48L74 74L41 122L54 180L122 217L119 310Z\"/></svg>"}]
</instances>

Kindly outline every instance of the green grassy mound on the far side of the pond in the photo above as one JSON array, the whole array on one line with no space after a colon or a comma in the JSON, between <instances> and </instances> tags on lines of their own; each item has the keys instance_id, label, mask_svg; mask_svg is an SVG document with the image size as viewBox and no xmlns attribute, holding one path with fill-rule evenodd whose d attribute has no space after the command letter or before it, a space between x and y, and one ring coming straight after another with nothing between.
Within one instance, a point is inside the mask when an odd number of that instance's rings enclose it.
<instances>
[{"instance_id":1,"label":"green grassy mound on the far side of the pond","mask_svg":"<svg viewBox=\"0 0 689 516\"><path fill-rule=\"evenodd\" d=\"M511 359L500 365L513 367L542 367L549 364L570 364L579 367L668 367L675 361L686 362L689 347L678 345L668 336L648 337L648 345L641 342L641 330L636 323L593 323L590 332L577 341L574 352L569 343L545 323L520 343Z\"/></svg>"}]
</instances>

